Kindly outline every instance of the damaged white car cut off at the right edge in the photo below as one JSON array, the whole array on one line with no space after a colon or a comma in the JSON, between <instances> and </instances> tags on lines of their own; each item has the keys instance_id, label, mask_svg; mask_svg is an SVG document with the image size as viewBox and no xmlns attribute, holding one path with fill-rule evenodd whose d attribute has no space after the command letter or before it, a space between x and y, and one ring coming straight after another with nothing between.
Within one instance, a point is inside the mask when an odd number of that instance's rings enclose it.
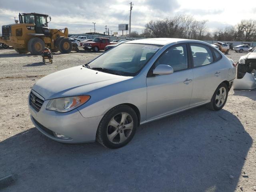
<instances>
[{"instance_id":1,"label":"damaged white car cut off at the right edge","mask_svg":"<svg viewBox=\"0 0 256 192\"><path fill-rule=\"evenodd\" d=\"M256 70L256 48L247 55L240 57L236 76L238 79L241 79L244 77L246 72L251 73L252 70Z\"/></svg>"}]
</instances>

